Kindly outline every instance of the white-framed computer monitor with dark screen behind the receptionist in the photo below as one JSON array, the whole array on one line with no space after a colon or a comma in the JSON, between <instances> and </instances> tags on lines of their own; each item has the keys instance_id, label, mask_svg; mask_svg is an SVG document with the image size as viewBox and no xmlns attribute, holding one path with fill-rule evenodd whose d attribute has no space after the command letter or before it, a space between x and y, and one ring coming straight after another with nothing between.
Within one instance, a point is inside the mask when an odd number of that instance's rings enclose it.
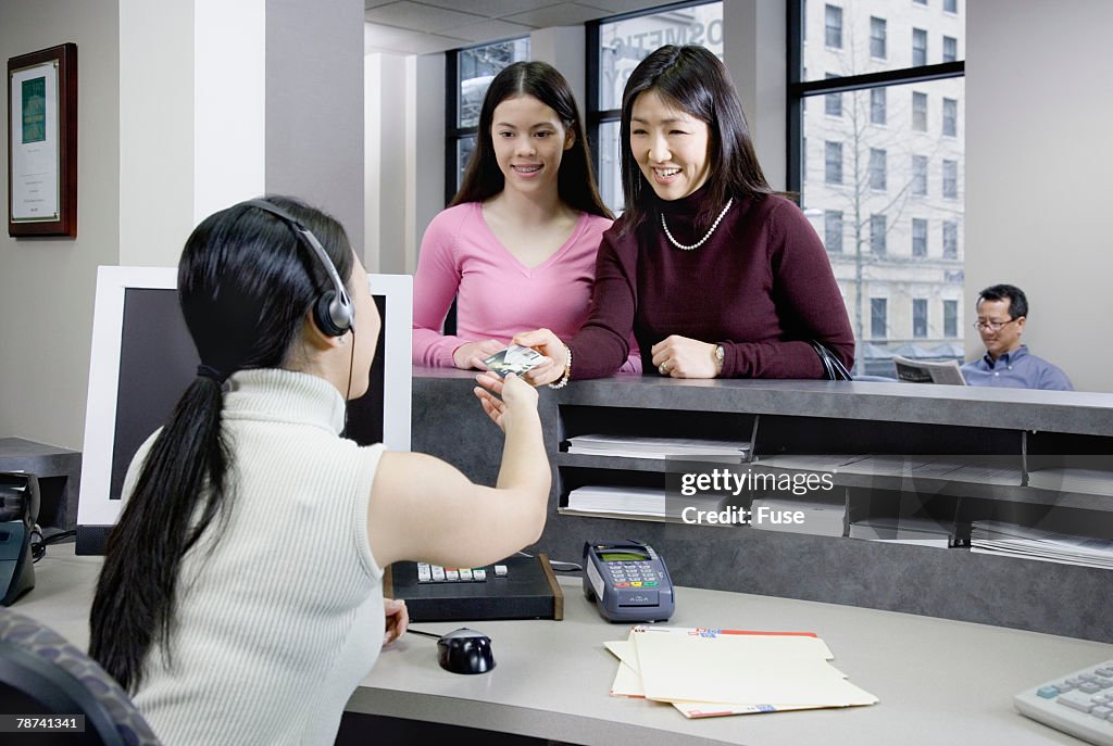
<instances>
[{"instance_id":1,"label":"white-framed computer monitor with dark screen behind the receptionist","mask_svg":"<svg viewBox=\"0 0 1113 746\"><path fill-rule=\"evenodd\" d=\"M104 554L131 457L197 375L173 267L100 267L77 511L77 554ZM367 394L348 404L347 437L410 450L413 278L368 275L383 318ZM358 322L358 320L357 320Z\"/></svg>"}]
</instances>

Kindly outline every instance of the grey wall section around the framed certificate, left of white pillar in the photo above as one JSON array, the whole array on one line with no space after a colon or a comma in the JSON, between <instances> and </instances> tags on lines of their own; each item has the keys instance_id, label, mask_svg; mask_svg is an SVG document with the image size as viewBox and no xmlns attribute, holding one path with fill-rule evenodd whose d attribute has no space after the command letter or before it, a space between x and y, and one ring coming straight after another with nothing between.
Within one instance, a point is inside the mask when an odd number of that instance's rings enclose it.
<instances>
[{"instance_id":1,"label":"grey wall section around the framed certificate, left of white pillar","mask_svg":"<svg viewBox=\"0 0 1113 746\"><path fill-rule=\"evenodd\" d=\"M0 437L80 449L92 278L98 265L117 262L120 242L117 3L0 3L0 59L67 41L78 48L77 238L17 240L0 231ZM0 147L0 171L7 166ZM8 179L0 182L7 206Z\"/></svg>"}]
</instances>

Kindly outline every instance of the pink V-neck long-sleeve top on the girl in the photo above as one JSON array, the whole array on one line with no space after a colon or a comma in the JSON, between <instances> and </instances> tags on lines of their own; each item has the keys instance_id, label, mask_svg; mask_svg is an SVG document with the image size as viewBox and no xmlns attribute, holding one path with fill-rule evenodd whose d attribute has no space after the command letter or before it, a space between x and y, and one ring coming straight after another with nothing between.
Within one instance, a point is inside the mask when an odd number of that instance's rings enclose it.
<instances>
[{"instance_id":1,"label":"pink V-neck long-sleeve top on the girl","mask_svg":"<svg viewBox=\"0 0 1113 746\"><path fill-rule=\"evenodd\" d=\"M429 223L414 275L414 365L452 367L452 352L466 342L510 342L520 331L548 328L571 338L588 319L595 255L611 221L587 212L551 257L526 267L487 227L480 202L440 212ZM442 335L456 298L456 334ZM623 371L641 372L631 352Z\"/></svg>"}]
</instances>

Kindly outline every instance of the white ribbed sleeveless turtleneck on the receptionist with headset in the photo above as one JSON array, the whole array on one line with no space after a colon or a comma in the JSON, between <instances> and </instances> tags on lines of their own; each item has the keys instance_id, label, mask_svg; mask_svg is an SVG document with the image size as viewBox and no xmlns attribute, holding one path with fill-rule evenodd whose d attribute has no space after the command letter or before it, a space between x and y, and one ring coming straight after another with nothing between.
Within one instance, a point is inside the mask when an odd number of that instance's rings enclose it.
<instances>
[{"instance_id":1,"label":"white ribbed sleeveless turtleneck on the receptionist with headset","mask_svg":"<svg viewBox=\"0 0 1113 746\"><path fill-rule=\"evenodd\" d=\"M383 640L383 570L367 546L383 446L338 436L344 400L322 378L270 369L230 382L232 509L186 555L169 660L151 648L134 699L167 746L332 744Z\"/></svg>"}]
</instances>

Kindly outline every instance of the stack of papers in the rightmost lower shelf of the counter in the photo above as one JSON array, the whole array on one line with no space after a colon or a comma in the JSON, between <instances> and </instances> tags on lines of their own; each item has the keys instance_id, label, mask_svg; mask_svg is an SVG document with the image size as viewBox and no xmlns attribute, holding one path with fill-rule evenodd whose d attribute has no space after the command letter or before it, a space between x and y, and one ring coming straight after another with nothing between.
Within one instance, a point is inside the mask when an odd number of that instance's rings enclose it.
<instances>
[{"instance_id":1,"label":"stack of papers in the rightmost lower shelf of the counter","mask_svg":"<svg viewBox=\"0 0 1113 746\"><path fill-rule=\"evenodd\" d=\"M1070 536L997 520L974 523L971 551L1113 569L1113 540Z\"/></svg>"}]
</instances>

